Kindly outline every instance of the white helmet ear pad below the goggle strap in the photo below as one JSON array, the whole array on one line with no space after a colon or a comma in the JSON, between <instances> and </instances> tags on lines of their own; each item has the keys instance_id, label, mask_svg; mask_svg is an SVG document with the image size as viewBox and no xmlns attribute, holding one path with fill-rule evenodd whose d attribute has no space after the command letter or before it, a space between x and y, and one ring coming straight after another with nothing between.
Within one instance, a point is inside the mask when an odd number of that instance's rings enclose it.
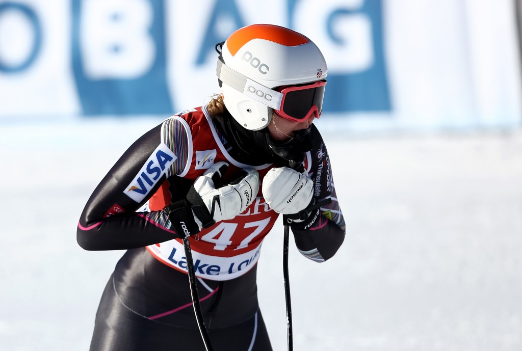
<instances>
[{"instance_id":1,"label":"white helmet ear pad below the goggle strap","mask_svg":"<svg viewBox=\"0 0 522 351\"><path fill-rule=\"evenodd\" d=\"M272 108L248 98L227 83L223 82L220 90L227 110L243 128L259 130L268 126L274 111Z\"/></svg>"}]
</instances>

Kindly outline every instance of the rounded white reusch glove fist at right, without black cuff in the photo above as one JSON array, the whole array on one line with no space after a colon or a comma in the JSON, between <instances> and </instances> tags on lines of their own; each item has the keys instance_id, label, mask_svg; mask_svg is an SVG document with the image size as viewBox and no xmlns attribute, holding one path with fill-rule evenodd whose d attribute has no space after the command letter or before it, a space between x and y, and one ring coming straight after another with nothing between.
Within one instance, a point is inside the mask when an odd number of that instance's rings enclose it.
<instances>
[{"instance_id":1,"label":"rounded white reusch glove fist at right, without black cuff","mask_svg":"<svg viewBox=\"0 0 522 351\"><path fill-rule=\"evenodd\" d=\"M312 201L313 181L288 167L272 168L263 178L263 197L277 213L294 214Z\"/></svg>"}]
</instances>

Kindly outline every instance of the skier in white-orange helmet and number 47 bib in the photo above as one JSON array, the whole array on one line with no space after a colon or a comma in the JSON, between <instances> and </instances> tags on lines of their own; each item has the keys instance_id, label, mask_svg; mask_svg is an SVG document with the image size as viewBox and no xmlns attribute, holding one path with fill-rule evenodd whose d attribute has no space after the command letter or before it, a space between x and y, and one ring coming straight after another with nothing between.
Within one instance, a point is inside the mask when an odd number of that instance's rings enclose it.
<instances>
[{"instance_id":1,"label":"skier in white-orange helmet and number 47 bib","mask_svg":"<svg viewBox=\"0 0 522 351\"><path fill-rule=\"evenodd\" d=\"M330 160L312 124L327 67L304 35L241 28L223 43L220 94L146 132L101 180L78 244L126 249L105 287L91 350L203 350L182 244L189 235L215 350L271 350L256 263L279 214L307 258L345 236ZM325 201L326 200L326 201Z\"/></svg>"}]
</instances>

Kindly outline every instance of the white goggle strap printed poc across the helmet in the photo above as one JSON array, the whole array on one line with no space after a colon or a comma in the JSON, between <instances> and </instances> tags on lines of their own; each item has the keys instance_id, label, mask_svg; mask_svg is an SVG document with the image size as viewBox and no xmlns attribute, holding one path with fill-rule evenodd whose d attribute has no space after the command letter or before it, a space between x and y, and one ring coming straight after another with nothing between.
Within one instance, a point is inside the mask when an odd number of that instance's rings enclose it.
<instances>
[{"instance_id":1,"label":"white goggle strap printed poc across the helmet","mask_svg":"<svg viewBox=\"0 0 522 351\"><path fill-rule=\"evenodd\" d=\"M240 72L223 64L219 59L216 66L216 75L223 83L245 94L248 98L274 108L274 110L281 109L282 93L243 76Z\"/></svg>"}]
</instances>

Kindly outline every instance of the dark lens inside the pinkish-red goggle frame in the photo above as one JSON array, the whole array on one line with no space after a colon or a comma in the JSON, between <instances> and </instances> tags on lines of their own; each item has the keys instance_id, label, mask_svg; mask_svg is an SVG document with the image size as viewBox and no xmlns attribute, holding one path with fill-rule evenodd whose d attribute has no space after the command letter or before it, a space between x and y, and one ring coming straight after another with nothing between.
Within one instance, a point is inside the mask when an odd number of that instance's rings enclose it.
<instances>
[{"instance_id":1,"label":"dark lens inside the pinkish-red goggle frame","mask_svg":"<svg viewBox=\"0 0 522 351\"><path fill-rule=\"evenodd\" d=\"M283 103L283 112L296 119L305 118L312 106L317 106L317 114L321 115L325 87L289 91Z\"/></svg>"}]
</instances>

